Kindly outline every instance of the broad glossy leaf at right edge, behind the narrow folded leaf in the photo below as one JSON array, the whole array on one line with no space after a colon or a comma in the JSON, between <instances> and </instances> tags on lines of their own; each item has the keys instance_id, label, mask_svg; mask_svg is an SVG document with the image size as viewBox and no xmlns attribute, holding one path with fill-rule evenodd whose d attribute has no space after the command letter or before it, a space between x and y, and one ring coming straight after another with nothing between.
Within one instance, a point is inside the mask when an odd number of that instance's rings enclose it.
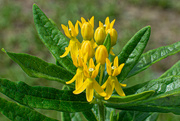
<instances>
[{"instance_id":1,"label":"broad glossy leaf at right edge, behind the narrow folded leaf","mask_svg":"<svg viewBox=\"0 0 180 121\"><path fill-rule=\"evenodd\" d=\"M170 76L148 82L137 93L154 90L155 94L145 100L130 103L105 103L106 106L143 112L172 112L180 115L180 76Z\"/></svg>"}]
</instances>

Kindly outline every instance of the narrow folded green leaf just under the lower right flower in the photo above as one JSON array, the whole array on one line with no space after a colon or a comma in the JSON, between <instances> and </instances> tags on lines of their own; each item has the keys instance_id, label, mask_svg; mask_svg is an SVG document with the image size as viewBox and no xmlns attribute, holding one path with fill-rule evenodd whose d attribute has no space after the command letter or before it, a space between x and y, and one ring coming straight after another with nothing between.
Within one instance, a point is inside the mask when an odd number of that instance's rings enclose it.
<instances>
[{"instance_id":1,"label":"narrow folded green leaf just under the lower right flower","mask_svg":"<svg viewBox=\"0 0 180 121\"><path fill-rule=\"evenodd\" d=\"M107 102L111 103L129 103L129 102L135 102L138 100L144 100L149 98L154 94L154 90L145 91L142 93L134 94L134 95L128 95L128 96L111 96Z\"/></svg>"}]
</instances>

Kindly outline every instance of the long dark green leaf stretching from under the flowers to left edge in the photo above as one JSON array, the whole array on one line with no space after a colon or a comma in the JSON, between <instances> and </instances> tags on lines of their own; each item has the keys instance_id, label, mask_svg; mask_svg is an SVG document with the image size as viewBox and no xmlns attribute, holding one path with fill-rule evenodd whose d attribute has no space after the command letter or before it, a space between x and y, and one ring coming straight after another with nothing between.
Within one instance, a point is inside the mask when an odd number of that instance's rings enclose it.
<instances>
[{"instance_id":1,"label":"long dark green leaf stretching from under the flowers to left edge","mask_svg":"<svg viewBox=\"0 0 180 121\"><path fill-rule=\"evenodd\" d=\"M74 95L71 90L29 86L21 81L16 83L0 79L0 92L22 105L33 108L79 112L93 106L86 101L85 93Z\"/></svg>"}]
</instances>

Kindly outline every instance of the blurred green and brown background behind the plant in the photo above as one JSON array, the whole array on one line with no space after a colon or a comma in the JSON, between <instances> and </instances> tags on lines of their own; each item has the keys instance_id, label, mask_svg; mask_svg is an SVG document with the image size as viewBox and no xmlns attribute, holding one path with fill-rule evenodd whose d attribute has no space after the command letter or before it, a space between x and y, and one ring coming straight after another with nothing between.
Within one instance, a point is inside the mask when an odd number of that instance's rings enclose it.
<instances>
[{"instance_id":1,"label":"blurred green and brown background behind the plant","mask_svg":"<svg viewBox=\"0 0 180 121\"><path fill-rule=\"evenodd\" d=\"M179 41L179 0L0 0L0 48L10 52L28 53L55 63L48 49L37 35L33 22L32 5L36 3L62 31L61 24L73 23L80 17L95 16L95 27L99 20L104 23L107 16L116 19L118 42L114 47L118 54L126 42L142 27L150 25L152 33L145 49L147 52L160 46ZM180 60L180 54L168 57L149 69L125 81L128 86L155 79ZM12 81L24 81L29 85L43 85L61 89L62 85L45 79L28 77L6 54L0 51L0 77ZM1 94L1 96L5 97ZM5 97L8 99L7 97ZM56 111L38 110L60 120ZM0 115L0 120L9 121ZM160 114L159 121L179 121L180 116Z\"/></svg>"}]
</instances>

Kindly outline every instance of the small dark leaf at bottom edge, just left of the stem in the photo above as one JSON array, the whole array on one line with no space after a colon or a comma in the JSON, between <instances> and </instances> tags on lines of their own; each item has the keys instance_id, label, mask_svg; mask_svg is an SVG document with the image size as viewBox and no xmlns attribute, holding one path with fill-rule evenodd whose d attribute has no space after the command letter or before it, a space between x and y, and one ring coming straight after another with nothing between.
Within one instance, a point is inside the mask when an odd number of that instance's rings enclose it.
<instances>
[{"instance_id":1,"label":"small dark leaf at bottom edge, just left of the stem","mask_svg":"<svg viewBox=\"0 0 180 121\"><path fill-rule=\"evenodd\" d=\"M92 110L83 111L82 113L88 121L98 121Z\"/></svg>"}]
</instances>

